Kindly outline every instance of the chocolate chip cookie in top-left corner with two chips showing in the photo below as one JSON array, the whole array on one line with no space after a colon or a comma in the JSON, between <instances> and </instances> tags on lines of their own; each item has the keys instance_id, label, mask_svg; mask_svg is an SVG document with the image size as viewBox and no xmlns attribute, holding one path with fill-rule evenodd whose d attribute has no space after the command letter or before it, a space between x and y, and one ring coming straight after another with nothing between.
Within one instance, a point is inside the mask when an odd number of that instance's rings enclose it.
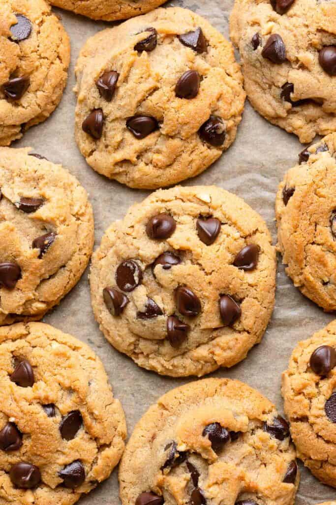
<instances>
[{"instance_id":1,"label":"chocolate chip cookie in top-left corner with two chips showing","mask_svg":"<svg viewBox=\"0 0 336 505\"><path fill-rule=\"evenodd\" d=\"M2 0L0 20L0 145L10 145L57 107L70 41L44 0Z\"/></svg>"}]
</instances>

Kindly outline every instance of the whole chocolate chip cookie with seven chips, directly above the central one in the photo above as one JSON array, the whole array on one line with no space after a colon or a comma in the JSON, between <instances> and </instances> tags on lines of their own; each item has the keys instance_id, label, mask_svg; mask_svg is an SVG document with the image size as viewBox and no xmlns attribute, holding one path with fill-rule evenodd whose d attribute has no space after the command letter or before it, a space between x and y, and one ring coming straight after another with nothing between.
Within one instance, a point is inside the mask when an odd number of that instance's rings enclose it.
<instances>
[{"instance_id":1,"label":"whole chocolate chip cookie with seven chips, directly above the central one","mask_svg":"<svg viewBox=\"0 0 336 505\"><path fill-rule=\"evenodd\" d=\"M186 9L157 9L97 33L76 75L81 153L130 187L195 176L236 136L245 93L232 45Z\"/></svg>"}]
</instances>

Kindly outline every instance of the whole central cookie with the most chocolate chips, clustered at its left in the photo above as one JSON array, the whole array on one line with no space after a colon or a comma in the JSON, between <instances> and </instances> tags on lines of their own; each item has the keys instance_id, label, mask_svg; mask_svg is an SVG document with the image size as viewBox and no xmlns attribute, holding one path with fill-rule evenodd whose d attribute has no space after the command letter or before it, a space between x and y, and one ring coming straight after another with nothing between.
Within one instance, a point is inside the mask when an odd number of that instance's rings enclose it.
<instances>
[{"instance_id":1,"label":"whole central cookie with the most chocolate chips, clustered at its left","mask_svg":"<svg viewBox=\"0 0 336 505\"><path fill-rule=\"evenodd\" d=\"M243 360L262 338L276 260L261 217L216 186L152 193L94 252L92 306L109 342L176 377Z\"/></svg>"}]
</instances>

